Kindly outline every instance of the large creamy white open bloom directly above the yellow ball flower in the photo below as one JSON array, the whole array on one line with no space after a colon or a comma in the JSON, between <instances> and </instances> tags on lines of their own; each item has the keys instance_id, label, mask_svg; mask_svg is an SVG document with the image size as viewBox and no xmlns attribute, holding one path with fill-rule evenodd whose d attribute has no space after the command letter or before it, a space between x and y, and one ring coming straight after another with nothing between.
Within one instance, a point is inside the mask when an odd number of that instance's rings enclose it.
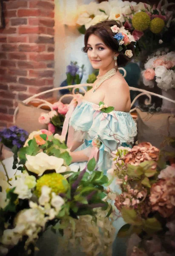
<instances>
[{"instance_id":1,"label":"large creamy white open bloom directly above the yellow ball flower","mask_svg":"<svg viewBox=\"0 0 175 256\"><path fill-rule=\"evenodd\" d=\"M43 152L36 156L26 155L26 158L26 168L38 176L41 176L46 170L55 170L57 173L66 172L66 166L62 166L63 158L48 156Z\"/></svg>"}]
</instances>

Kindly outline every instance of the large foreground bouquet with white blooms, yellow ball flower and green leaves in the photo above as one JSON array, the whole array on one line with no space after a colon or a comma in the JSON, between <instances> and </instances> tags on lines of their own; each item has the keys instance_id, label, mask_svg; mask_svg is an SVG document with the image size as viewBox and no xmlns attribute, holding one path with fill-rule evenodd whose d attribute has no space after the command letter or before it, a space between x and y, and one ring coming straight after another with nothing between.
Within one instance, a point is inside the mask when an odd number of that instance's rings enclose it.
<instances>
[{"instance_id":1,"label":"large foreground bouquet with white blooms, yellow ball flower and green leaves","mask_svg":"<svg viewBox=\"0 0 175 256\"><path fill-rule=\"evenodd\" d=\"M12 150L13 169L18 173L11 179L6 168L6 176L0 173L0 251L4 255L22 255L23 250L32 254L38 237L50 225L63 233L64 228L74 230L79 225L79 216L97 215L96 208L110 215L102 186L108 178L95 170L94 158L83 171L71 172L69 149L58 134L34 131L23 148Z\"/></svg>"}]
</instances>

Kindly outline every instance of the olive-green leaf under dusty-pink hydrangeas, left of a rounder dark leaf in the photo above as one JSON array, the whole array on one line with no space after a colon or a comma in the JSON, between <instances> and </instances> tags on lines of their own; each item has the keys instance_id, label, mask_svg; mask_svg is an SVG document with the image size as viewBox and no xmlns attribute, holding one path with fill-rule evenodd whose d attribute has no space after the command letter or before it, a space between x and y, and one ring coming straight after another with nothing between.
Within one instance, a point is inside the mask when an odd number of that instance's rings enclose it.
<instances>
[{"instance_id":1,"label":"olive-green leaf under dusty-pink hydrangeas, left of a rounder dark leaf","mask_svg":"<svg viewBox=\"0 0 175 256\"><path fill-rule=\"evenodd\" d=\"M140 226L142 224L142 221L137 218L137 213L134 209L122 208L122 217L126 223Z\"/></svg>"}]
</instances>

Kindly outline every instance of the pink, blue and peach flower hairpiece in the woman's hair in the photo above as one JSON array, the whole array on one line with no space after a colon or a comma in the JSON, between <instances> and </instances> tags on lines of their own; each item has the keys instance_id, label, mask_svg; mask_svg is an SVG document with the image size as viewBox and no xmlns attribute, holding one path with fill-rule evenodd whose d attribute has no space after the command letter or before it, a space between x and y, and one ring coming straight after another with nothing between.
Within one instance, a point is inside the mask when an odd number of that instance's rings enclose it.
<instances>
[{"instance_id":1,"label":"pink, blue and peach flower hairpiece in the woman's hair","mask_svg":"<svg viewBox=\"0 0 175 256\"><path fill-rule=\"evenodd\" d=\"M111 30L113 33L115 33L113 38L115 38L119 44L118 52L121 52L123 49L125 49L125 55L131 58L133 56L132 50L128 50L127 45L131 42L135 42L134 37L128 30L124 28L124 26L119 28L117 25L114 25L111 27Z\"/></svg>"}]
</instances>

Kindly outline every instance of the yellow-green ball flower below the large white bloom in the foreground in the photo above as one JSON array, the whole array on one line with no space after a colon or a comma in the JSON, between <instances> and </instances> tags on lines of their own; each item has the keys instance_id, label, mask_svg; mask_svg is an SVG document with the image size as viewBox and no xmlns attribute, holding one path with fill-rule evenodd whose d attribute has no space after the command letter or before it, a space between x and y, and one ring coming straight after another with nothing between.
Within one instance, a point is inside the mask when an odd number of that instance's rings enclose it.
<instances>
[{"instance_id":1,"label":"yellow-green ball flower below the large white bloom in the foreground","mask_svg":"<svg viewBox=\"0 0 175 256\"><path fill-rule=\"evenodd\" d=\"M65 193L69 187L69 183L66 178L59 173L49 173L45 174L37 180L35 195L39 198L41 195L42 186L48 186L51 188L51 192L55 192L55 194Z\"/></svg>"}]
</instances>

